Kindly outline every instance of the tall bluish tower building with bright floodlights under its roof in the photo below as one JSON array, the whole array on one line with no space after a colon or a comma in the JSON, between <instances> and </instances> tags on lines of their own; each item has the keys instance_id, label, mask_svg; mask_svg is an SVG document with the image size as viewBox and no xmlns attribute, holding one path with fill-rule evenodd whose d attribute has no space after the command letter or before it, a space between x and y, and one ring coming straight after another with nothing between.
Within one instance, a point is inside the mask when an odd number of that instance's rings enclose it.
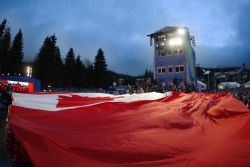
<instances>
[{"instance_id":1,"label":"tall bluish tower building with bright floodlights under its roof","mask_svg":"<svg viewBox=\"0 0 250 167\"><path fill-rule=\"evenodd\" d=\"M154 79L162 83L174 80L196 85L194 37L186 27L164 27L152 34Z\"/></svg>"}]
</instances>

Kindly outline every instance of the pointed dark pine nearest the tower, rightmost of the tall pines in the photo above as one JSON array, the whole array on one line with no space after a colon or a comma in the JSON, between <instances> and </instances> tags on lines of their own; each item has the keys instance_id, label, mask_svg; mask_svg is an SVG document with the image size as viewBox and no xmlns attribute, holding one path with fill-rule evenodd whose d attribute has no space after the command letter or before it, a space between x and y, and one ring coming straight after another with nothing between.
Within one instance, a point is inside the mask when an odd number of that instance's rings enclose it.
<instances>
[{"instance_id":1,"label":"pointed dark pine nearest the tower, rightmost of the tall pines","mask_svg":"<svg viewBox=\"0 0 250 167\"><path fill-rule=\"evenodd\" d=\"M110 84L107 64L102 49L98 50L94 62L95 86L105 88Z\"/></svg>"}]
</instances>

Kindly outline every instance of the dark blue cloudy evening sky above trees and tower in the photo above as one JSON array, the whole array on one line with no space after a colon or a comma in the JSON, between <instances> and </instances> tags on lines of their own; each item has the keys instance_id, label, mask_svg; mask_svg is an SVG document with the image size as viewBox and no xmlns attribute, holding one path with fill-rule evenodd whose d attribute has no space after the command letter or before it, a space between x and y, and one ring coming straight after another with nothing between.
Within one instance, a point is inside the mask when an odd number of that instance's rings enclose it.
<instances>
[{"instance_id":1,"label":"dark blue cloudy evening sky above trees and tower","mask_svg":"<svg viewBox=\"0 0 250 167\"><path fill-rule=\"evenodd\" d=\"M0 0L14 36L24 34L24 60L33 60L46 36L56 34L62 58L70 47L94 61L104 50L108 68L142 74L153 66L147 34L186 26L202 66L250 66L249 0Z\"/></svg>"}]
</instances>

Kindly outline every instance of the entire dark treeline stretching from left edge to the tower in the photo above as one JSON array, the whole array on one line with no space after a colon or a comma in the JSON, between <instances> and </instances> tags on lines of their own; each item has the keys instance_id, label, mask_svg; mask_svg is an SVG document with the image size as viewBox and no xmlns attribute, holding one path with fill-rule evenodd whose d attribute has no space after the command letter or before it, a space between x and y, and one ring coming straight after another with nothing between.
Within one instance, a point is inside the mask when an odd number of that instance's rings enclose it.
<instances>
[{"instance_id":1,"label":"entire dark treeline stretching from left edge to the tower","mask_svg":"<svg viewBox=\"0 0 250 167\"><path fill-rule=\"evenodd\" d=\"M21 29L11 41L10 27L4 19L0 24L0 73L9 75L25 75L23 62L23 34ZM135 84L136 78L153 78L153 73L146 69L143 76L132 77L117 74L108 70L104 51L100 48L95 55L94 62L81 60L73 48L69 48L66 55L62 55L57 46L56 35L47 36L42 43L32 66L32 77L40 79L42 88L107 88L118 79L124 79L124 84Z\"/></svg>"}]
</instances>

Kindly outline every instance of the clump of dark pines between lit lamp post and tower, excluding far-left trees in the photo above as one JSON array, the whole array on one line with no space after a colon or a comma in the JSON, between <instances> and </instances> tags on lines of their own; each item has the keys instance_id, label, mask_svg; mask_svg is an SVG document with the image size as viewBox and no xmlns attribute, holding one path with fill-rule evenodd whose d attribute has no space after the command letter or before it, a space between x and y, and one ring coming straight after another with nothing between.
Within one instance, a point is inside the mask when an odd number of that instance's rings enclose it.
<instances>
[{"instance_id":1,"label":"clump of dark pines between lit lamp post and tower, excluding far-left trees","mask_svg":"<svg viewBox=\"0 0 250 167\"><path fill-rule=\"evenodd\" d=\"M95 62L83 63L70 48L64 60L56 45L55 35L46 37L33 62L33 76L42 80L42 87L101 87L112 84L107 72L104 52L99 49Z\"/></svg>"}]
</instances>

